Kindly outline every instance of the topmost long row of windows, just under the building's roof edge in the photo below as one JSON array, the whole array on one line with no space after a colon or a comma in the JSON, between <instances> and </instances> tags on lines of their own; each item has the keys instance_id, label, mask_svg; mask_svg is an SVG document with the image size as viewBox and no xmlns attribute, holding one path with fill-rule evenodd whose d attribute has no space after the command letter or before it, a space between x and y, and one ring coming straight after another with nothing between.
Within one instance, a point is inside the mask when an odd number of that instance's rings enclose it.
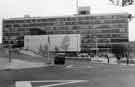
<instances>
[{"instance_id":1,"label":"topmost long row of windows, just under the building's roof edge","mask_svg":"<svg viewBox=\"0 0 135 87\"><path fill-rule=\"evenodd\" d=\"M108 23L110 24L128 24L127 20L99 20L99 21L76 21L76 22L46 22L46 23L16 23L16 24L4 24L4 27L7 28L11 28L11 27L31 27L31 26L63 26L63 25L95 25L96 26L100 26L100 25L108 25ZM100 24L100 25L97 25ZM109 25L110 26L110 25ZM123 25L122 25L123 26Z\"/></svg>"}]
</instances>

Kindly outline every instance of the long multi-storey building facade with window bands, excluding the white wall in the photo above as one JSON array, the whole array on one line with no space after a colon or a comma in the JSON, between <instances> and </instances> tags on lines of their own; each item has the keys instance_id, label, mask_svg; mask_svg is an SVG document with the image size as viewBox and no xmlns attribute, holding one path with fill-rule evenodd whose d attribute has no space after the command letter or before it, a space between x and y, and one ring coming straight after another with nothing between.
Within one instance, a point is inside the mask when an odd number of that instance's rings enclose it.
<instances>
[{"instance_id":1,"label":"long multi-storey building facade with window bands, excluding the white wall","mask_svg":"<svg viewBox=\"0 0 135 87\"><path fill-rule=\"evenodd\" d=\"M128 42L128 13L3 20L3 44L23 46L25 35L80 34L81 52ZM18 46L18 47L19 47Z\"/></svg>"}]
</instances>

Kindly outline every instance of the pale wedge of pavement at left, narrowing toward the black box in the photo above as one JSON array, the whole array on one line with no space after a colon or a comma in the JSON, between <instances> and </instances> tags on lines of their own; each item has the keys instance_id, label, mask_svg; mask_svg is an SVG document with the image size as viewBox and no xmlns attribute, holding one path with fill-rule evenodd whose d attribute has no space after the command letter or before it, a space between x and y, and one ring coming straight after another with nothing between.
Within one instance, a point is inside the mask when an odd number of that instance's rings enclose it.
<instances>
[{"instance_id":1,"label":"pale wedge of pavement at left, narrowing toward the black box","mask_svg":"<svg viewBox=\"0 0 135 87\"><path fill-rule=\"evenodd\" d=\"M6 69L25 69L48 66L44 62L30 62L27 60L12 59L9 63L8 58L0 58L0 70Z\"/></svg>"}]
</instances>

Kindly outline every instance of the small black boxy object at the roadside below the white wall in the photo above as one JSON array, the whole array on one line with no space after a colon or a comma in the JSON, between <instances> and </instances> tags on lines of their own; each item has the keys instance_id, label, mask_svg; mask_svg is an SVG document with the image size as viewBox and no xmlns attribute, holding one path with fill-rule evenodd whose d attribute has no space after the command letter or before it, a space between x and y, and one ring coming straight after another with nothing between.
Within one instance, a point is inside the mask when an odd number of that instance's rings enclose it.
<instances>
[{"instance_id":1,"label":"small black boxy object at the roadside below the white wall","mask_svg":"<svg viewBox=\"0 0 135 87\"><path fill-rule=\"evenodd\" d=\"M65 55L64 54L58 54L54 58L54 64L65 64Z\"/></svg>"}]
</instances>

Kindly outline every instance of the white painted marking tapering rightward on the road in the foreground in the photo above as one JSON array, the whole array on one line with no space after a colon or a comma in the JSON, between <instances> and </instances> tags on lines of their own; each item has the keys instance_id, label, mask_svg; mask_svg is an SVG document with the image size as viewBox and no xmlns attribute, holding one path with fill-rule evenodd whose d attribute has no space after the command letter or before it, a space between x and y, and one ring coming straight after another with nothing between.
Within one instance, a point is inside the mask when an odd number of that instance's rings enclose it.
<instances>
[{"instance_id":1,"label":"white painted marking tapering rightward on the road in the foreground","mask_svg":"<svg viewBox=\"0 0 135 87\"><path fill-rule=\"evenodd\" d=\"M59 85L88 82L88 80L40 80L40 81L17 81L16 87L33 87L33 84L38 84L36 87L54 87ZM40 84L41 83L41 84ZM44 84L43 84L44 83Z\"/></svg>"}]
</instances>

